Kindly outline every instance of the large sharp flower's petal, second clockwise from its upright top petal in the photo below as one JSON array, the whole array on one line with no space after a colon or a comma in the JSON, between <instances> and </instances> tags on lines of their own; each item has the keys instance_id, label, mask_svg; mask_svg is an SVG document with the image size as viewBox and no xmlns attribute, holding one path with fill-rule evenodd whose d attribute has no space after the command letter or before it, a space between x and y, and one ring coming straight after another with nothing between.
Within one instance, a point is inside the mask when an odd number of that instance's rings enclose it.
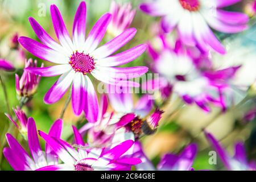
<instances>
[{"instance_id":1,"label":"large sharp flower's petal, second clockwise from its upright top petal","mask_svg":"<svg viewBox=\"0 0 256 182\"><path fill-rule=\"evenodd\" d=\"M129 28L124 31L121 35L117 36L116 38L110 40L110 42L104 44L93 51L93 57L96 57L98 60L108 57L112 55L115 51L119 48L123 47L127 42L129 42L135 36L137 30L135 28Z\"/></svg>"}]
</instances>

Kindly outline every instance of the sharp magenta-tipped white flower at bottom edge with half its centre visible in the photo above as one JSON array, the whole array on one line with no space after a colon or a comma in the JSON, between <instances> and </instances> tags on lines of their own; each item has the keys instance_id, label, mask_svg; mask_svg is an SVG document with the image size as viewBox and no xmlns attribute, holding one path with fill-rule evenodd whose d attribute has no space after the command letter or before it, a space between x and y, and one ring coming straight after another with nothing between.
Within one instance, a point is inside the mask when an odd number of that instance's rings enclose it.
<instances>
[{"instance_id":1,"label":"sharp magenta-tipped white flower at bottom edge with half its centre visible","mask_svg":"<svg viewBox=\"0 0 256 182\"><path fill-rule=\"evenodd\" d=\"M76 127L73 127L75 143L73 148L67 142L51 137L42 131L40 136L52 147L64 164L57 164L41 168L40 170L65 170L65 171L109 171L130 170L131 166L141 163L138 158L125 156L125 152L134 144L126 140L113 148L89 148Z\"/></svg>"}]
</instances>

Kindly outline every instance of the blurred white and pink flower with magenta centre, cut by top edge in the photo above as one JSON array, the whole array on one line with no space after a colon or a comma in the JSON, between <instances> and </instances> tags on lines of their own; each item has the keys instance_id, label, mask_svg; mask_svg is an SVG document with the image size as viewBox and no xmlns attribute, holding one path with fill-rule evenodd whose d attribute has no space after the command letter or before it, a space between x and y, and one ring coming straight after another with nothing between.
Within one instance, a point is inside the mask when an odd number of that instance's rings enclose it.
<instances>
[{"instance_id":1,"label":"blurred white and pink flower with magenta centre, cut by top edge","mask_svg":"<svg viewBox=\"0 0 256 182\"><path fill-rule=\"evenodd\" d=\"M181 40L189 46L225 53L225 48L210 30L237 33L247 28L249 18L237 12L222 10L241 0L156 0L143 3L141 10L151 16L163 16L162 28L170 32L177 28Z\"/></svg>"}]
</instances>

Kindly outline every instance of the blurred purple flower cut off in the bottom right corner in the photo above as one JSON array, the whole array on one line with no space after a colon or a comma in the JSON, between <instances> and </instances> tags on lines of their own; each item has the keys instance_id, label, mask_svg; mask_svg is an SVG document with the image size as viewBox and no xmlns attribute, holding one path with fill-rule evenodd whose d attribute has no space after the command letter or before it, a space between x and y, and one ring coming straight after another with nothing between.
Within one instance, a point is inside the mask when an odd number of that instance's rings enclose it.
<instances>
[{"instance_id":1,"label":"blurred purple flower cut off in the bottom right corner","mask_svg":"<svg viewBox=\"0 0 256 182\"><path fill-rule=\"evenodd\" d=\"M230 156L224 148L220 146L220 143L213 137L212 134L205 131L205 136L207 137L208 141L212 144L214 150L220 156L220 159L224 163L225 167L230 171L251 171L256 170L256 163L250 162L248 163L246 160L246 152L243 144L238 142L235 146L234 156Z\"/></svg>"}]
</instances>

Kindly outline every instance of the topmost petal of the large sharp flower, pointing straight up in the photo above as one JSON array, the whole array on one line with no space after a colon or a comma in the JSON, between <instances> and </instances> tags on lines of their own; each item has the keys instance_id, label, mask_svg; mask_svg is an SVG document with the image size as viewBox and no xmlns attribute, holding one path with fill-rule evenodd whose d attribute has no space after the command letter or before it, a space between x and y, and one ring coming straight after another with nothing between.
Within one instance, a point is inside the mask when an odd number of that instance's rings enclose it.
<instances>
[{"instance_id":1,"label":"topmost petal of the large sharp flower, pointing straight up","mask_svg":"<svg viewBox=\"0 0 256 182\"><path fill-rule=\"evenodd\" d=\"M86 30L86 3L82 1L77 8L73 23L73 42L77 48L84 46Z\"/></svg>"}]
</instances>

